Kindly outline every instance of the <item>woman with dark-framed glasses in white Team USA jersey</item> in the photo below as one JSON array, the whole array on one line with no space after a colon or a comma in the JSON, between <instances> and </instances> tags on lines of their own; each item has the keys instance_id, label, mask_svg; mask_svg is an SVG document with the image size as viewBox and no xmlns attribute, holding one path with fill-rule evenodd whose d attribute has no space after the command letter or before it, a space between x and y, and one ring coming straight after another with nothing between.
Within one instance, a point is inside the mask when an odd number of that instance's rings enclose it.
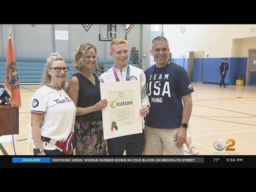
<instances>
[{"instance_id":1,"label":"woman with dark-framed glasses in white Team USA jersey","mask_svg":"<svg viewBox=\"0 0 256 192\"><path fill-rule=\"evenodd\" d=\"M47 59L41 87L30 100L34 155L65 155L63 148L53 143L64 142L74 132L76 106L67 94L68 70L65 60L52 53Z\"/></svg>"}]
</instances>

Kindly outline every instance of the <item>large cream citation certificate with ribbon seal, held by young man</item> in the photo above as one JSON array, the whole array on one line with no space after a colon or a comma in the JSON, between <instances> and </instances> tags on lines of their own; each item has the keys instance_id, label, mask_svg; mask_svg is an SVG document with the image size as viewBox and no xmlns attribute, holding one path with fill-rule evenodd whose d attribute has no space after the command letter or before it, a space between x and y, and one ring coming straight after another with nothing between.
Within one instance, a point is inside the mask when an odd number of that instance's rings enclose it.
<instances>
[{"instance_id":1,"label":"large cream citation certificate with ribbon seal, held by young man","mask_svg":"<svg viewBox=\"0 0 256 192\"><path fill-rule=\"evenodd\" d=\"M102 110L104 140L142 133L139 80L100 83L100 96L108 100Z\"/></svg>"}]
</instances>

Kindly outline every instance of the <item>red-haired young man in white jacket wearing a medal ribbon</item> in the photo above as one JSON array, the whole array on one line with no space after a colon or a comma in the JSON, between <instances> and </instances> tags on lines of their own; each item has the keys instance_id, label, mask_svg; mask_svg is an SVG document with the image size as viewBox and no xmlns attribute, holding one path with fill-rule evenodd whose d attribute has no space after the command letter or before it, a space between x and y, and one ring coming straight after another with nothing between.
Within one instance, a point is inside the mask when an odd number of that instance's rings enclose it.
<instances>
[{"instance_id":1,"label":"red-haired young man in white jacket wearing a medal ribbon","mask_svg":"<svg viewBox=\"0 0 256 192\"><path fill-rule=\"evenodd\" d=\"M100 82L139 80L141 91L140 115L149 114L150 102L146 90L146 76L140 68L128 65L127 41L115 38L110 44L110 56L114 59L114 66L100 76ZM142 155L145 144L144 131L139 134L132 134L108 139L108 152L110 155Z\"/></svg>"}]
</instances>

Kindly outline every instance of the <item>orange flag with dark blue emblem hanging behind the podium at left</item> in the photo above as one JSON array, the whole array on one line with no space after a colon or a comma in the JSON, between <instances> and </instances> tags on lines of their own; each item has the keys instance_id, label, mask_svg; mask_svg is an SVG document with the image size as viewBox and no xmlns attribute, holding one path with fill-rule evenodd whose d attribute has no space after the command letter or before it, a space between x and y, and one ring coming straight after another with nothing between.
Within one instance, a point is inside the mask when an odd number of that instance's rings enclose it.
<instances>
[{"instance_id":1,"label":"orange flag with dark blue emblem hanging behind the podium at left","mask_svg":"<svg viewBox=\"0 0 256 192\"><path fill-rule=\"evenodd\" d=\"M16 66L14 51L12 48L11 35L7 43L6 67L5 67L5 86L11 94L10 103L21 106L20 85L18 78L18 70Z\"/></svg>"}]
</instances>

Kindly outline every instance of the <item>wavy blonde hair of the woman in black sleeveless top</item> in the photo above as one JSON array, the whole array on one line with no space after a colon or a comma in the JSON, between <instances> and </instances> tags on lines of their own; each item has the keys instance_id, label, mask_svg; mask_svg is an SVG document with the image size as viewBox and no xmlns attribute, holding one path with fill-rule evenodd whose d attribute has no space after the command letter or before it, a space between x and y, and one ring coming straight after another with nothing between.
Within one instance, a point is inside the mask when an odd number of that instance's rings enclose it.
<instances>
[{"instance_id":1,"label":"wavy blonde hair of the woman in black sleeveless top","mask_svg":"<svg viewBox=\"0 0 256 192\"><path fill-rule=\"evenodd\" d=\"M81 70L82 66L84 65L84 61L86 59L86 53L88 52L89 49L94 49L95 53L97 55L97 48L90 43L84 43L80 44L76 49L74 53L74 58L73 58L73 66L76 70ZM96 65L94 66L94 69L98 67L98 63L96 62Z\"/></svg>"}]
</instances>

